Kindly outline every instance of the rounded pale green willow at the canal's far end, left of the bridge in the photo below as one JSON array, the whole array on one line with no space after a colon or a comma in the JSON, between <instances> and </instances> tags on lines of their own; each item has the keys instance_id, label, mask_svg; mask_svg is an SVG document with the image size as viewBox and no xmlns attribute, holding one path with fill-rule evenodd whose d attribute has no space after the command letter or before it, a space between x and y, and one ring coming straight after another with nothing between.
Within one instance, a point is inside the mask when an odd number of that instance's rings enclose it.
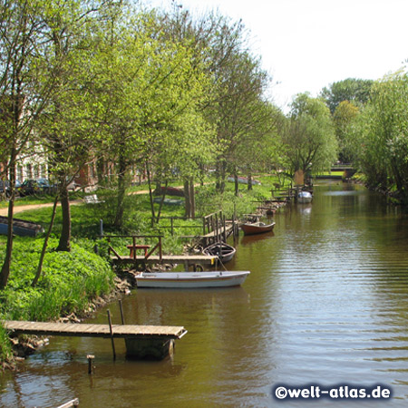
<instances>
[{"instance_id":1,"label":"rounded pale green willow at the canal's far end, left of the bridge","mask_svg":"<svg viewBox=\"0 0 408 408\"><path fill-rule=\"evenodd\" d=\"M300 93L281 130L288 170L306 174L330 168L336 159L337 141L325 102Z\"/></svg>"}]
</instances>

